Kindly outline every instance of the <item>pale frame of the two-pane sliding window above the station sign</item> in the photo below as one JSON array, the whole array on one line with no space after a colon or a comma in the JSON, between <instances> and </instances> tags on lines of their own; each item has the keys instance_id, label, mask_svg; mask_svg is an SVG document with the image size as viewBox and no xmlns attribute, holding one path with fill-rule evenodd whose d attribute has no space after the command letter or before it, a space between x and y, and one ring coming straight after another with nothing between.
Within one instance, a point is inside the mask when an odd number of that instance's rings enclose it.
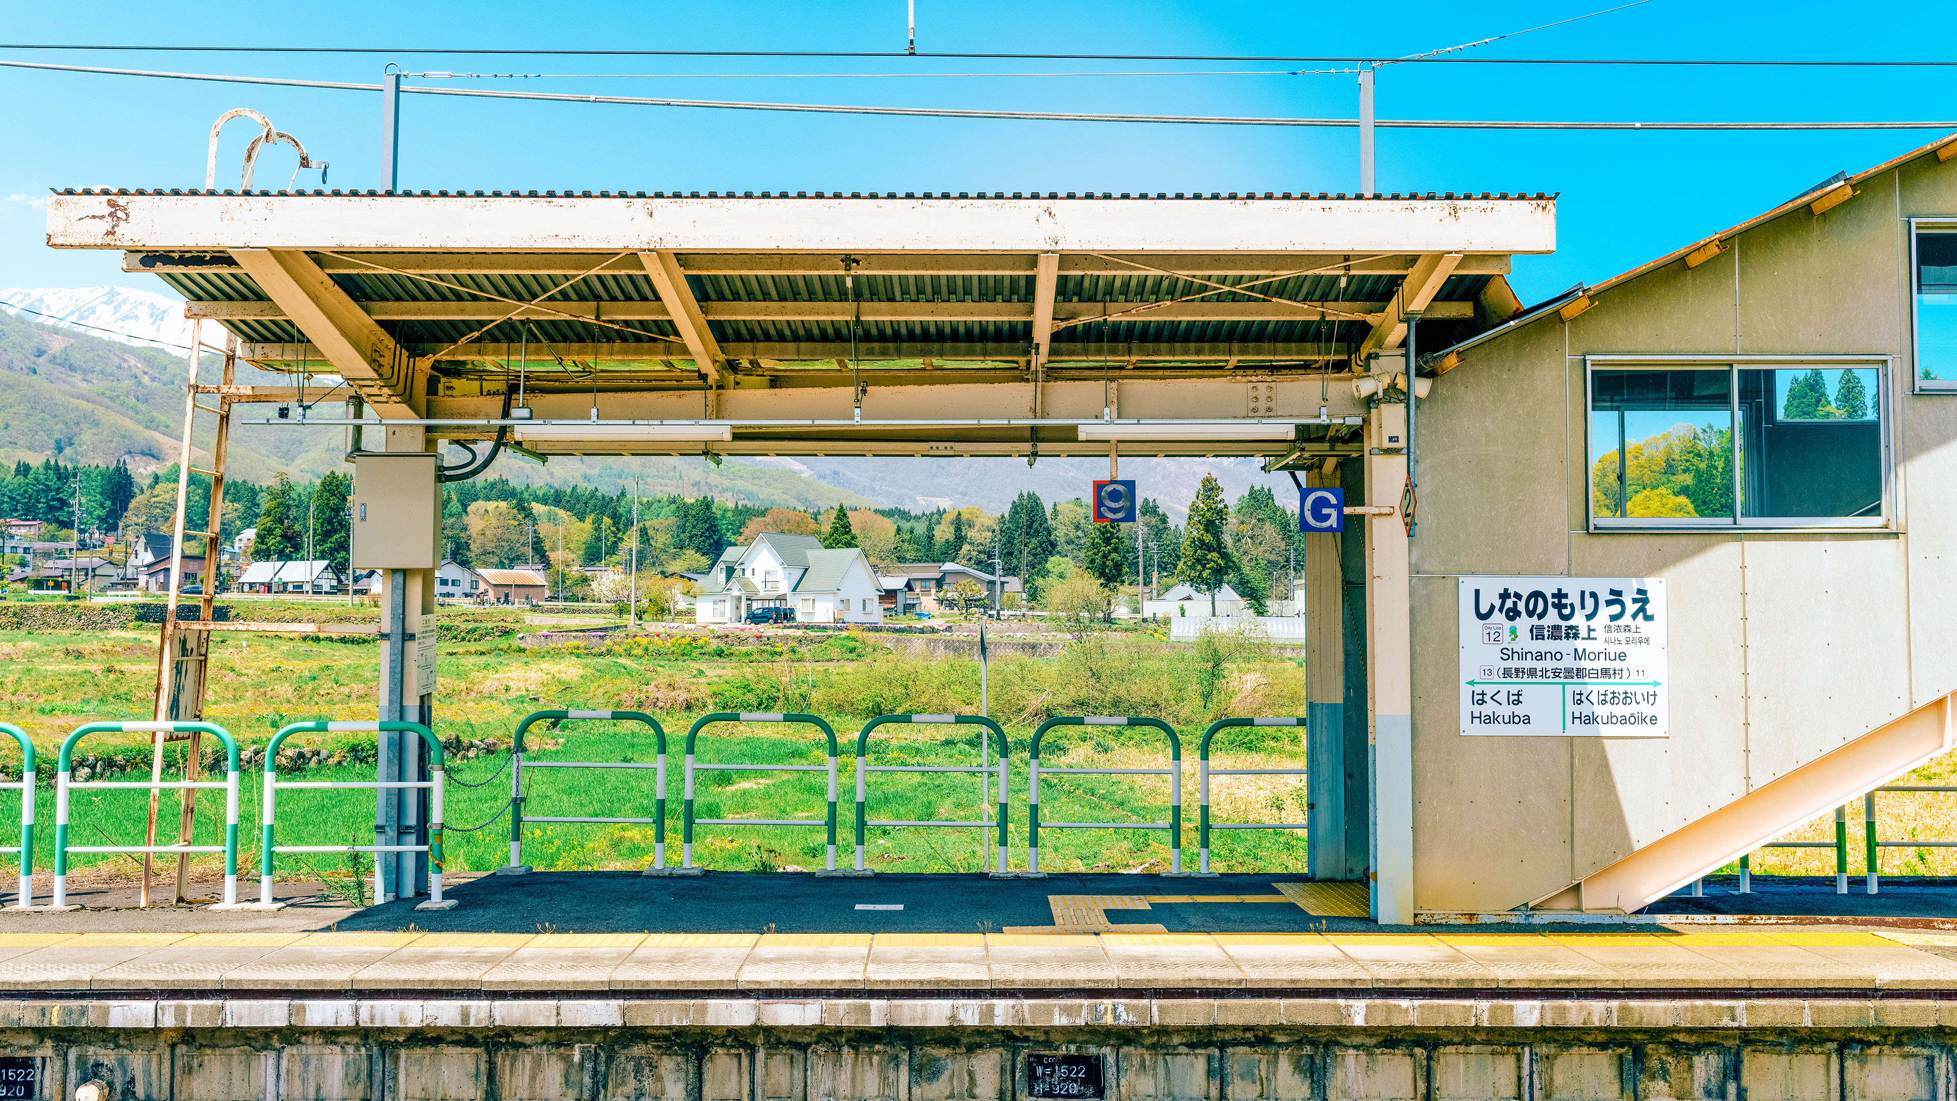
<instances>
[{"instance_id":1,"label":"pale frame of the two-pane sliding window above the station sign","mask_svg":"<svg viewBox=\"0 0 1957 1101\"><path fill-rule=\"evenodd\" d=\"M1953 223L1957 225L1957 223ZM1914 255L1914 245L1912 245ZM1914 288L1914 284L1912 284ZM1910 292L1910 300L1916 300L1916 292ZM1894 415L1890 406L1890 378L1896 357L1883 353L1853 355L1853 353L1828 353L1828 355L1634 355L1634 353L1613 353L1613 355L1585 355L1583 357L1583 515L1585 531L1591 535L1611 535L1611 533L1718 533L1718 531L1896 531L1896 517L1900 509L1896 507L1896 447L1894 447ZM1791 366L1873 366L1875 368L1875 388L1877 388L1877 435L1883 443L1881 464L1883 464L1883 511L1873 517L1849 517L1849 515L1830 515L1830 517L1748 517L1738 515L1742 511L1738 502L1738 468L1734 470L1734 513L1732 517L1599 517L1597 515L1597 464L1591 458L1591 419L1595 409L1591 406L1597 386L1595 376L1599 370L1726 370L1732 378L1728 388L1728 402L1732 407L1732 433L1734 433L1734 458L1738 460L1740 445L1740 372L1742 370L1785 370ZM1914 364L1912 364L1914 368Z\"/></svg>"}]
</instances>

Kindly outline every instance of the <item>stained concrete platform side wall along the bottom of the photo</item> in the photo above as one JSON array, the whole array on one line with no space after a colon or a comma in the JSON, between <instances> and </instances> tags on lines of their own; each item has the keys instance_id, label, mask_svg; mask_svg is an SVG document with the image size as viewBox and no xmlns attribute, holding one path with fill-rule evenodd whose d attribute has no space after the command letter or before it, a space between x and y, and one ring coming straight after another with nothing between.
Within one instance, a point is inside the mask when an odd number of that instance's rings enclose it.
<instances>
[{"instance_id":1,"label":"stained concrete platform side wall along the bottom of the photo","mask_svg":"<svg viewBox=\"0 0 1957 1101\"><path fill-rule=\"evenodd\" d=\"M1055 1050L1100 1054L1110 1101L1951 1091L1949 1009L1928 999L39 1005L0 1056L37 1060L37 1097L102 1079L115 1101L1010 1101L1025 1054Z\"/></svg>"}]
</instances>

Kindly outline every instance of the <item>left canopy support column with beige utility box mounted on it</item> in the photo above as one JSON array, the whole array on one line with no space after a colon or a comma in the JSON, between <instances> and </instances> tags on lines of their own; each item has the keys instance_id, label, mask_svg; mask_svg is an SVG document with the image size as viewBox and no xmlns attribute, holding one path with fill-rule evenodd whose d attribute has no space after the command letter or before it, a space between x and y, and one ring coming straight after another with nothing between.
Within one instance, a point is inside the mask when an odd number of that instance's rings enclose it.
<instances>
[{"instance_id":1,"label":"left canopy support column with beige utility box mounted on it","mask_svg":"<svg viewBox=\"0 0 1957 1101\"><path fill-rule=\"evenodd\" d=\"M374 431L366 445L374 445ZM352 566L380 570L380 719L434 729L434 570L440 566L440 480L421 425L389 425L384 453L354 456ZM384 731L376 780L425 782L429 748L413 733ZM374 844L427 844L429 791L380 788ZM425 852L378 852L374 901L427 891Z\"/></svg>"}]
</instances>

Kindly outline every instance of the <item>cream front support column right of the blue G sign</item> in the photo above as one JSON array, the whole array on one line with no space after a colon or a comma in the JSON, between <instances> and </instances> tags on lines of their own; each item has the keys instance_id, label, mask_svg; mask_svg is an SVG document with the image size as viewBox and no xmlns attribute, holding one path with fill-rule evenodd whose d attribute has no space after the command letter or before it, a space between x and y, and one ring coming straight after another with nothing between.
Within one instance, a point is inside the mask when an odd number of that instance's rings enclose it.
<instances>
[{"instance_id":1,"label":"cream front support column right of the blue G sign","mask_svg":"<svg viewBox=\"0 0 1957 1101\"><path fill-rule=\"evenodd\" d=\"M1384 357L1382 357L1384 359ZM1413 635L1407 529L1407 406L1382 404L1366 421L1366 672L1372 715L1372 917L1413 925Z\"/></svg>"}]
</instances>

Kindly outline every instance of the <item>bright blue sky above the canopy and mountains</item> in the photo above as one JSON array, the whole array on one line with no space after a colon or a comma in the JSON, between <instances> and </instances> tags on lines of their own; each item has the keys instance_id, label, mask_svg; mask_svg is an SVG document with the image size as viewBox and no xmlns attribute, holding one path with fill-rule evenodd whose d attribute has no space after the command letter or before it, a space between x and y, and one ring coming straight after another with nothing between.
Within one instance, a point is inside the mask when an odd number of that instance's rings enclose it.
<instances>
[{"instance_id":1,"label":"bright blue sky above the canopy and mountains","mask_svg":"<svg viewBox=\"0 0 1957 1101\"><path fill-rule=\"evenodd\" d=\"M922 51L1405 55L1607 8L1609 0L1464 6L1086 4L918 0ZM1945 59L1947 8L1687 4L1536 31L1460 57ZM904 2L832 4L129 4L16 6L14 43L476 45L613 49L902 49ZM591 94L1147 114L1356 114L1350 74L775 78L712 74L1274 71L1270 63L916 59L487 59L468 55L209 55L0 49L0 59L317 80L409 71L636 72L660 78L474 80ZM1296 67L1294 67L1296 69ZM1900 120L1953 118L1951 71L1417 67L1380 76L1382 118ZM0 69L0 286L125 284L102 253L41 243L49 186L200 186L205 131L250 106L333 163L329 186L378 186L380 96ZM573 190L1356 190L1352 131L888 120L806 114L452 102L409 96L403 186ZM1519 257L1525 302L1599 282L1859 170L1939 131L1489 133L1382 131L1380 190L1560 192L1560 249ZM219 155L235 184L243 125ZM284 186L290 153L262 161ZM317 178L317 176L315 176Z\"/></svg>"}]
</instances>

